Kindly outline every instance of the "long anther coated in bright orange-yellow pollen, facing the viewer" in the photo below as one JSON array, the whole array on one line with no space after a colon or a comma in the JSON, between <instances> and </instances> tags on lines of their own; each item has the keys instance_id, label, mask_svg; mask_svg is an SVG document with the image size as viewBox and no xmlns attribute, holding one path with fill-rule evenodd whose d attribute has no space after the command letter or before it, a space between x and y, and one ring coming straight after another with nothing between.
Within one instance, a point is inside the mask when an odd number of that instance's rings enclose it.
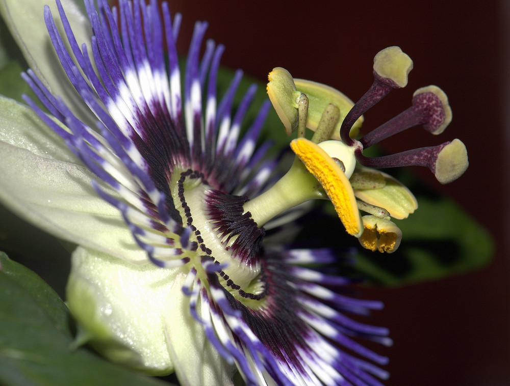
<instances>
[{"instance_id":1,"label":"long anther coated in bright orange-yellow pollen, facing the viewer","mask_svg":"<svg viewBox=\"0 0 510 386\"><path fill-rule=\"evenodd\" d=\"M347 233L360 237L363 233L360 212L354 191L342 169L323 149L307 139L293 140L290 146L322 185Z\"/></svg>"}]
</instances>

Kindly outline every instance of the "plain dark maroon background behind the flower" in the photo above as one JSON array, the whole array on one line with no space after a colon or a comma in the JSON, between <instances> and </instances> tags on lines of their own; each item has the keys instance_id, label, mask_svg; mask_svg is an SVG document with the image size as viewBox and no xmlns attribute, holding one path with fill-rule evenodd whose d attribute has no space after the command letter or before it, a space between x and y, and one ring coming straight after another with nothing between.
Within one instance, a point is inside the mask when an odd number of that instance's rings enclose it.
<instances>
[{"instance_id":1,"label":"plain dark maroon background behind the flower","mask_svg":"<svg viewBox=\"0 0 510 386\"><path fill-rule=\"evenodd\" d=\"M266 81L276 66L295 77L331 85L353 100L372 82L374 54L398 45L414 61L409 84L365 115L374 128L411 104L414 90L435 84L448 95L453 122L439 137L410 130L381 147L390 152L460 138L466 174L440 185L425 168L415 172L455 199L493 234L488 266L435 282L369 289L386 308L372 321L391 329L389 386L510 384L508 118L510 2L196 2L171 1L184 15L186 53L195 20L210 22L207 37L224 43L222 64ZM405 236L404 236L405 237ZM405 239L404 239L405 242Z\"/></svg>"}]
</instances>

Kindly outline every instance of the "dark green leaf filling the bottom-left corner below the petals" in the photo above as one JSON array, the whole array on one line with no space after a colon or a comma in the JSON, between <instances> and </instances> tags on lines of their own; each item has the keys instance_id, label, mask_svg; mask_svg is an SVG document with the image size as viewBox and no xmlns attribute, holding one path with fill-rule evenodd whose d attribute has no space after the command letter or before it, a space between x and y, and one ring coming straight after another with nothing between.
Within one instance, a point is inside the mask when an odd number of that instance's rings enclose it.
<instances>
[{"instance_id":1,"label":"dark green leaf filling the bottom-left corner below the petals","mask_svg":"<svg viewBox=\"0 0 510 386\"><path fill-rule=\"evenodd\" d=\"M71 350L69 314L34 272L0 253L0 384L3 386L168 385Z\"/></svg>"}]
</instances>

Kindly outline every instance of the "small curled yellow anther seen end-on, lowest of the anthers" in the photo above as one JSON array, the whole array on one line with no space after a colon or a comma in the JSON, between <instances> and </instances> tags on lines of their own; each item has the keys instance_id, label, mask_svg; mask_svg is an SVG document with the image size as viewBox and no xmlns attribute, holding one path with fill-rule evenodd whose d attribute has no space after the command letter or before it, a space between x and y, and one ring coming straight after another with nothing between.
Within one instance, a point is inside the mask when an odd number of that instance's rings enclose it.
<instances>
[{"instance_id":1,"label":"small curled yellow anther seen end-on, lowest of the anthers","mask_svg":"<svg viewBox=\"0 0 510 386\"><path fill-rule=\"evenodd\" d=\"M402 239L402 231L389 219L363 216L365 230L359 238L361 245L370 251L395 252Z\"/></svg>"}]
</instances>

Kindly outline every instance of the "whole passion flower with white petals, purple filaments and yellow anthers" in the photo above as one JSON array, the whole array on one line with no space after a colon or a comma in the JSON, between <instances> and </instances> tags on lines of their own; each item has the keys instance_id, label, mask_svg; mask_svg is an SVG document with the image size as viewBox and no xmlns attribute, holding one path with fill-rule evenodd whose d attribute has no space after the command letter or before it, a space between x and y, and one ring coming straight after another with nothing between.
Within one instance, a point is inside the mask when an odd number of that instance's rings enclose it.
<instances>
[{"instance_id":1,"label":"whole passion flower with white petals, purple filaments and yellow anthers","mask_svg":"<svg viewBox=\"0 0 510 386\"><path fill-rule=\"evenodd\" d=\"M79 245L67 287L77 343L147 373L175 370L190 385L233 384L236 371L250 385L377 385L387 378L379 366L388 359L358 340L389 345L388 330L346 315L381 303L345 296L351 280L324 273L347 253L292 249L277 229L293 226L300 204L329 199L362 245L391 252L401 234L388 217L406 217L416 202L386 174L355 169L356 159L367 167L426 164L442 182L465 170L465 148L452 148L455 141L363 156L407 127L441 131L448 108L434 91L419 93L410 111L360 141L349 136L406 79L410 64L401 65L401 51L381 51L384 65L376 61L374 86L356 104L284 70L270 74L273 105L289 133L298 130L291 142L297 157L275 182L278 161L269 143L258 145L270 104L241 134L256 90L234 107L238 71L225 94L216 94L223 46L208 41L200 56L206 23L196 23L182 66L175 48L181 18L172 20L165 3L160 10L156 2L121 1L111 10L99 0L96 10L89 0L86 20L57 0L57 20L48 6L41 15L56 66L26 28L32 7L22 3L3 0L2 12L33 68L23 77L49 114L25 98L43 125L28 107L0 99L0 198ZM316 130L311 140L307 126ZM361 218L358 208L371 214ZM264 240L270 232L276 245Z\"/></svg>"}]
</instances>

